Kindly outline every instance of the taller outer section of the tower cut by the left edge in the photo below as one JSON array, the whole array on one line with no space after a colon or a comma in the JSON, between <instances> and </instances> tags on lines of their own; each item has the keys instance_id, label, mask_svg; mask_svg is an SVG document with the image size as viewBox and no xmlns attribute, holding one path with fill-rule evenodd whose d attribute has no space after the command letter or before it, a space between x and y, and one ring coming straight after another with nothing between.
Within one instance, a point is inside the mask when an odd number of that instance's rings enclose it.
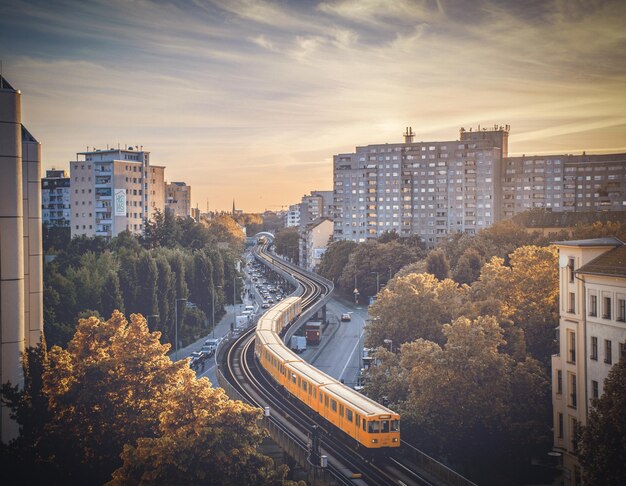
<instances>
[{"instance_id":1,"label":"taller outer section of the tower cut by the left edge","mask_svg":"<svg viewBox=\"0 0 626 486\"><path fill-rule=\"evenodd\" d=\"M0 381L23 386L24 247L21 95L0 85ZM2 407L0 439L18 434Z\"/></svg>"}]
</instances>

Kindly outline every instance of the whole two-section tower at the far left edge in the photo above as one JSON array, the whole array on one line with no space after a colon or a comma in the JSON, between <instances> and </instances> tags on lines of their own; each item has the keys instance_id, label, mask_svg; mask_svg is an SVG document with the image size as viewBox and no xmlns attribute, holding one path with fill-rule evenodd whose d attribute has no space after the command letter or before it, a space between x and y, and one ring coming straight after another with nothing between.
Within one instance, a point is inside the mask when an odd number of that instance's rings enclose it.
<instances>
[{"instance_id":1,"label":"whole two-section tower at the far left edge","mask_svg":"<svg viewBox=\"0 0 626 486\"><path fill-rule=\"evenodd\" d=\"M0 76L0 380L23 386L22 353L43 334L41 144L22 125L21 93ZM0 406L0 439L19 428Z\"/></svg>"}]
</instances>

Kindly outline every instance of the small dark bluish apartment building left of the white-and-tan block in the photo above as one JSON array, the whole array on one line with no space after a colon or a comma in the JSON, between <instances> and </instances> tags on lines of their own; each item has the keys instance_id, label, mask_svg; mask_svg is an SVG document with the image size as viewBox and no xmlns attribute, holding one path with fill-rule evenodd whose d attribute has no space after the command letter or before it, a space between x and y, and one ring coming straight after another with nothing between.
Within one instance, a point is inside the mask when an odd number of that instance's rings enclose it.
<instances>
[{"instance_id":1,"label":"small dark bluish apartment building left of the white-and-tan block","mask_svg":"<svg viewBox=\"0 0 626 486\"><path fill-rule=\"evenodd\" d=\"M70 177L65 170L47 170L41 179L42 223L52 227L70 227Z\"/></svg>"}]
</instances>

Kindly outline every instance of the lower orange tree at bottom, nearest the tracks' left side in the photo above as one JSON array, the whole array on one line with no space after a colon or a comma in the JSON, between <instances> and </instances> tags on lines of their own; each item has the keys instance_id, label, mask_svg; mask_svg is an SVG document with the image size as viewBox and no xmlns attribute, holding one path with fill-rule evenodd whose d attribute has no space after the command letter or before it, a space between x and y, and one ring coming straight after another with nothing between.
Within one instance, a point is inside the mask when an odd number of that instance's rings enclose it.
<instances>
[{"instance_id":1,"label":"lower orange tree at bottom, nearest the tracks' left side","mask_svg":"<svg viewBox=\"0 0 626 486\"><path fill-rule=\"evenodd\" d=\"M256 452L265 437L257 426L261 411L229 400L221 388L191 373L170 397L160 416L159 436L126 445L124 464L110 485L125 484L283 484L287 469Z\"/></svg>"}]
</instances>

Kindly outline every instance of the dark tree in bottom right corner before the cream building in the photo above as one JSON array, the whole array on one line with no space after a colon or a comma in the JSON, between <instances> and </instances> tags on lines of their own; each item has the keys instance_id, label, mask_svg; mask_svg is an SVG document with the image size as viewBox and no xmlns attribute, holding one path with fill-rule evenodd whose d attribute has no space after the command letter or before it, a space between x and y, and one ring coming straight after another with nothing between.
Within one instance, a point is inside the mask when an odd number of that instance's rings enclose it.
<instances>
[{"instance_id":1,"label":"dark tree in bottom right corner before the cream building","mask_svg":"<svg viewBox=\"0 0 626 486\"><path fill-rule=\"evenodd\" d=\"M585 484L626 484L626 359L609 371L604 392L582 427L579 460Z\"/></svg>"}]
</instances>

